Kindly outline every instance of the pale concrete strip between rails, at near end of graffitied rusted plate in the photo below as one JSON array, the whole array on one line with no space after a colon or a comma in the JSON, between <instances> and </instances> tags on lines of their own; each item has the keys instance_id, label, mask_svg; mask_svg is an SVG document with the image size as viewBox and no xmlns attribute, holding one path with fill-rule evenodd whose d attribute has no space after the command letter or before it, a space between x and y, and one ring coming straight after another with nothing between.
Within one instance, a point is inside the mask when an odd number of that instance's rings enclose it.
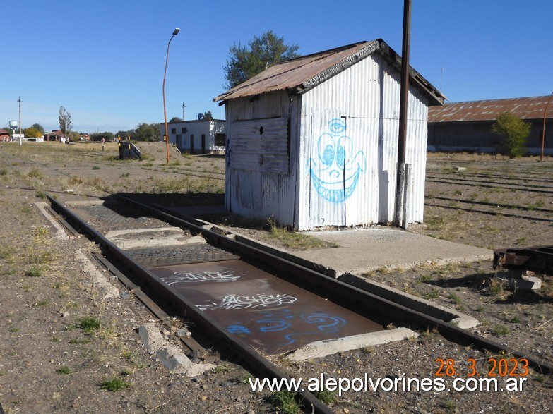
<instances>
[{"instance_id":1,"label":"pale concrete strip between rails, at near end of graffitied rusted plate","mask_svg":"<svg viewBox=\"0 0 553 414\"><path fill-rule=\"evenodd\" d=\"M415 331L408 328L396 328L387 331L376 331L369 334L346 336L345 338L327 339L308 343L302 348L287 355L292 361L304 361L313 358L323 358L333 353L352 351L367 346L383 345L384 343L417 338Z\"/></svg>"}]
</instances>

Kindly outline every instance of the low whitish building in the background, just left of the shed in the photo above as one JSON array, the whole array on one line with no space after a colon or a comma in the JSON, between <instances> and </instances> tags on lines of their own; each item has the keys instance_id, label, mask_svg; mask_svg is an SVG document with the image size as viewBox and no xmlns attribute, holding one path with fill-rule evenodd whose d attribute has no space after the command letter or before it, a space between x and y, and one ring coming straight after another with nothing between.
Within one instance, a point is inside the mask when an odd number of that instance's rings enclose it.
<instances>
[{"instance_id":1,"label":"low whitish building in the background, just left of the shed","mask_svg":"<svg viewBox=\"0 0 553 414\"><path fill-rule=\"evenodd\" d=\"M198 121L167 122L169 142L181 152L191 154L223 154L225 152L225 121L200 119ZM160 123L165 137L165 123Z\"/></svg>"}]
</instances>

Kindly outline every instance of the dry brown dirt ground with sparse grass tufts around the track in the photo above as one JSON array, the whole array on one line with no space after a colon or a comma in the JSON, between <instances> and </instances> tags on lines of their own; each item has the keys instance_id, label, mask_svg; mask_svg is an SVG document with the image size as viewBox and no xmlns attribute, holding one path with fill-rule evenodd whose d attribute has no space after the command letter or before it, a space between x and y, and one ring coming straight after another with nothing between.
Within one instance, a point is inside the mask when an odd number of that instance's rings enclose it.
<instances>
[{"instance_id":1,"label":"dry brown dirt ground with sparse grass tufts around the track","mask_svg":"<svg viewBox=\"0 0 553 414\"><path fill-rule=\"evenodd\" d=\"M141 161L119 161L117 147L107 144L60 145L9 143L0 148L0 403L11 413L293 413L272 402L268 391L254 392L253 375L244 361L217 346L198 360L216 368L194 378L169 372L150 354L137 329L153 321L169 336L183 326L178 317L157 321L117 281L109 280L120 296L105 291L85 268L80 252L97 252L88 239L61 240L36 207L48 193L59 200L93 200L109 194L155 195L167 205L221 203L225 159L181 155L167 164L165 145L139 143ZM448 158L449 157L449 158ZM444 167L445 164L448 166ZM488 156L429 154L429 171L442 171L462 162L474 171L524 171L537 168L535 159L491 159ZM461 165L461 164L459 164ZM539 165L546 177L552 159ZM521 170L522 171L522 170ZM432 196L484 197L492 202L517 200L552 209L551 195L521 195L485 188L458 188L427 183ZM497 199L494 197L497 194ZM518 198L517 198L518 197ZM533 197L540 197L535 200ZM495 201L497 200L497 201ZM545 213L547 214L547 213ZM549 216L553 216L549 214ZM220 217L246 235L294 250L287 238L262 223ZM553 244L547 221L491 217L454 209L427 207L428 236L487 248ZM255 224L255 225L254 225ZM359 275L415 296L455 308L480 320L473 331L505 346L529 351L553 363L553 284L540 276L537 292L510 290L492 271L490 262L427 266L402 272L380 269ZM458 346L432 329L417 339L349 351L305 363L275 360L294 377L353 379L436 379L440 360L453 360L467 378L470 361L487 377L494 355ZM472 358L472 359L471 359ZM451 363L451 361L450 361ZM511 362L513 364L513 362ZM522 374L521 367L515 371ZM515 373L513 372L513 374ZM463 374L464 373L464 374ZM518 376L517 378L521 378ZM529 372L522 391L347 391L328 393L337 413L536 413L553 411L552 379ZM453 377L445 377L451 384ZM501 384L504 379L500 379Z\"/></svg>"}]
</instances>

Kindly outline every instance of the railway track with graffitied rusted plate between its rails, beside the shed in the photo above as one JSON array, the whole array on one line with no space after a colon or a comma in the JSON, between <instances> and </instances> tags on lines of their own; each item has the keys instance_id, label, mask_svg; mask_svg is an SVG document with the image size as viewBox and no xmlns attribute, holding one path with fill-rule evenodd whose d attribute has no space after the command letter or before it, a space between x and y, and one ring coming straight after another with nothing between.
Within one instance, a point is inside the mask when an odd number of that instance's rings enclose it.
<instances>
[{"instance_id":1,"label":"railway track with graffitied rusted plate between its rails, beside the shed","mask_svg":"<svg viewBox=\"0 0 553 414\"><path fill-rule=\"evenodd\" d=\"M350 319L361 331L381 329L390 323L413 329L435 328L446 339L465 346L526 358L542 374L553 370L553 365L524 351L506 349L455 324L239 243L167 210L123 197L110 197L108 202L80 209L53 197L49 201L70 226L102 246L107 257L117 263L119 272L132 275L129 283L157 293L194 322L198 331L239 355L259 377L287 378L282 369L262 354L282 353L299 343L309 343L311 334L300 335L306 327L316 327L315 330L331 337L355 334L343 324ZM121 226L126 231L121 232ZM140 233L172 239L178 248L170 248L170 243L162 247L150 243L145 247L147 238L137 244L129 236ZM229 286L237 278L246 283L239 288L239 294L230 293ZM255 290L261 286L258 283L265 289L263 298L251 294L259 293ZM197 288L201 284L207 287ZM251 286L256 288L252 291ZM308 308L295 313L294 305L299 302L309 303ZM309 315L302 319L299 314ZM292 325L299 319L304 325L295 330ZM251 335L254 327L262 329ZM331 412L307 391L299 391L297 398L316 413Z\"/></svg>"}]
</instances>

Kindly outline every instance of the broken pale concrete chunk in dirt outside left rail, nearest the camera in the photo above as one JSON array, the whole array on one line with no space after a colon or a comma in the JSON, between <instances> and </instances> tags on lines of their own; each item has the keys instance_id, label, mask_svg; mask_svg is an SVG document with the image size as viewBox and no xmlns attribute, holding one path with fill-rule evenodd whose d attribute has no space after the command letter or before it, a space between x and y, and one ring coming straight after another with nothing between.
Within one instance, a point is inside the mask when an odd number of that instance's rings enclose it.
<instances>
[{"instance_id":1,"label":"broken pale concrete chunk in dirt outside left rail, nearest the camera","mask_svg":"<svg viewBox=\"0 0 553 414\"><path fill-rule=\"evenodd\" d=\"M217 365L205 363L196 364L189 360L179 347L172 345L165 339L156 324L148 322L138 327L138 335L144 342L148 352L154 354L163 365L175 374L184 374L186 377L196 377Z\"/></svg>"}]
</instances>

